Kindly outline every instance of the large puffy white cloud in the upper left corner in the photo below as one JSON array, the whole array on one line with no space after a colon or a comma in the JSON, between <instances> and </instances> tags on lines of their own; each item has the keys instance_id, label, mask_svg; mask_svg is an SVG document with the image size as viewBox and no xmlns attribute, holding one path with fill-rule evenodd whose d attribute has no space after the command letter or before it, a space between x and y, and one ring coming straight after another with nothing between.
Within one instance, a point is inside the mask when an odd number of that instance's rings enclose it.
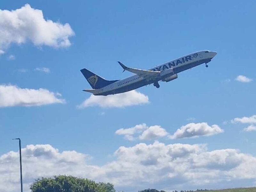
<instances>
[{"instance_id":1,"label":"large puffy white cloud in the upper left corner","mask_svg":"<svg viewBox=\"0 0 256 192\"><path fill-rule=\"evenodd\" d=\"M45 20L42 10L33 9L29 4L12 11L0 10L0 54L10 44L27 41L36 46L68 47L69 37L73 35L68 23Z\"/></svg>"}]
</instances>

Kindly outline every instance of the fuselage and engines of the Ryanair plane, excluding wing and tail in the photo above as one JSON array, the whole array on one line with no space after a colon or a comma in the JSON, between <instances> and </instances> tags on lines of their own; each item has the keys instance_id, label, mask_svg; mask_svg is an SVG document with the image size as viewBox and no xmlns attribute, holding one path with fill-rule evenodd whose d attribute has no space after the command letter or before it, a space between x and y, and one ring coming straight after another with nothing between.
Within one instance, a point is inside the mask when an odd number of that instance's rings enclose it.
<instances>
[{"instance_id":1,"label":"fuselage and engines of the Ryanair plane, excluding wing and tail","mask_svg":"<svg viewBox=\"0 0 256 192\"><path fill-rule=\"evenodd\" d=\"M139 87L154 83L154 86L158 88L158 81L172 81L178 78L178 73L203 63L208 63L216 54L216 52L207 50L194 52L149 69L150 71L160 71L159 75L157 76L152 77L146 75L133 75L125 79L115 81L114 83L111 83L100 89L94 89L92 93L94 95L111 95L128 92ZM206 65L206 67L208 67L208 65Z\"/></svg>"}]
</instances>

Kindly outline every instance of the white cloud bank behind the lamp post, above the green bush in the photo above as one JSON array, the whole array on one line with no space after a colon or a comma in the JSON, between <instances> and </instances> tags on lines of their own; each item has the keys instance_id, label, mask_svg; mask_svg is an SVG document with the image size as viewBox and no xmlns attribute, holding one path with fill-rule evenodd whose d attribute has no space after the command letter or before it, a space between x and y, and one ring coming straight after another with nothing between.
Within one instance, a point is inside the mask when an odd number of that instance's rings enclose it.
<instances>
[{"instance_id":1,"label":"white cloud bank behind the lamp post, above the green bush","mask_svg":"<svg viewBox=\"0 0 256 192\"><path fill-rule=\"evenodd\" d=\"M76 176L87 175L94 178L100 174L97 166L86 165L89 156L76 151L59 152L50 145L28 145L22 149L24 191L29 191L29 183L39 177L58 174ZM72 167L72 169L70 169ZM0 156L0 191L19 191L19 154L10 151ZM76 172L76 173L75 173Z\"/></svg>"}]
</instances>

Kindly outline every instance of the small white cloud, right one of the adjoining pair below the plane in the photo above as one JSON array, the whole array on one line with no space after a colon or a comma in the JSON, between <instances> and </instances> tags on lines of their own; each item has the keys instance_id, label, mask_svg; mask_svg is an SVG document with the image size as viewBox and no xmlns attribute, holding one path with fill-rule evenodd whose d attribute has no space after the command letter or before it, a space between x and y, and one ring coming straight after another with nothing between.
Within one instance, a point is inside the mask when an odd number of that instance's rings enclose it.
<instances>
[{"instance_id":1,"label":"small white cloud, right one of the adjoining pair below the plane","mask_svg":"<svg viewBox=\"0 0 256 192\"><path fill-rule=\"evenodd\" d=\"M198 136L210 136L224 132L218 125L209 126L207 123L189 123L181 126L170 139L180 139Z\"/></svg>"}]
</instances>

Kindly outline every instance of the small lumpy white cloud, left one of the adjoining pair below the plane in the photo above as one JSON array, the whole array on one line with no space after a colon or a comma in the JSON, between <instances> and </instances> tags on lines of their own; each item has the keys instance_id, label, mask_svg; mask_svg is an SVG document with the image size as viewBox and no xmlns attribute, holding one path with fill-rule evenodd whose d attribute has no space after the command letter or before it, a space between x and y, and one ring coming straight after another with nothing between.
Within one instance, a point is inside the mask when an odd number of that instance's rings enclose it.
<instances>
[{"instance_id":1,"label":"small lumpy white cloud, left one of the adjoining pair below the plane","mask_svg":"<svg viewBox=\"0 0 256 192\"><path fill-rule=\"evenodd\" d=\"M159 125L148 127L145 123L143 123L127 129L124 129L124 128L118 129L116 130L116 134L124 135L124 139L133 141L136 139L140 139L140 140L157 139L159 137L164 137L168 135L168 132L166 132L165 129ZM133 135L135 134L136 136L134 137Z\"/></svg>"}]
</instances>

